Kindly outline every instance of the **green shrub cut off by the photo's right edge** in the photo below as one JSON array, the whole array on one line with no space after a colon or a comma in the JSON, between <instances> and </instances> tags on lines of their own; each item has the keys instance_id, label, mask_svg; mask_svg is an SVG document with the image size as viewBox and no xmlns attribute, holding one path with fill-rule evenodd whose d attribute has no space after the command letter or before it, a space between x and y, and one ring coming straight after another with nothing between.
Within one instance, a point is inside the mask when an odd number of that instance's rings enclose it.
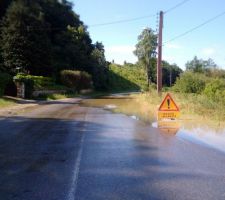
<instances>
[{"instance_id":1,"label":"green shrub cut off by the photo's right edge","mask_svg":"<svg viewBox=\"0 0 225 200\"><path fill-rule=\"evenodd\" d=\"M213 79L206 84L203 94L213 101L225 102L225 81L223 79Z\"/></svg>"}]
</instances>

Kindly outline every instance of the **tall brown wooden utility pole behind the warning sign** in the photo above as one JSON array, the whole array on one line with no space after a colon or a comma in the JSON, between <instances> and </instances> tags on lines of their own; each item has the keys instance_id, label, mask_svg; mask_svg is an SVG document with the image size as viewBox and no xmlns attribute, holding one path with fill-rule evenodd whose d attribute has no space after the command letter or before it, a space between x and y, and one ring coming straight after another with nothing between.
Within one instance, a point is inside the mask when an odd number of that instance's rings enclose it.
<instances>
[{"instance_id":1,"label":"tall brown wooden utility pole behind the warning sign","mask_svg":"<svg viewBox=\"0 0 225 200\"><path fill-rule=\"evenodd\" d=\"M158 59L157 59L157 92L160 95L162 91L162 29L163 12L160 11L159 17L159 35L158 35Z\"/></svg>"}]
</instances>

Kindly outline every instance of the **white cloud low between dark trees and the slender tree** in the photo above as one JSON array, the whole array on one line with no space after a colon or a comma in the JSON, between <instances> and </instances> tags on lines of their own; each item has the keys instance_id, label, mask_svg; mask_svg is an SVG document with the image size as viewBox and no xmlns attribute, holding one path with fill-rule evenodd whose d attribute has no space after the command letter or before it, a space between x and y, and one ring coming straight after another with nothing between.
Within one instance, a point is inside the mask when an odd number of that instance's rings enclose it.
<instances>
[{"instance_id":1,"label":"white cloud low between dark trees and the slender tree","mask_svg":"<svg viewBox=\"0 0 225 200\"><path fill-rule=\"evenodd\" d=\"M133 54L135 46L133 45L113 45L105 46L105 55L108 61L114 60L118 64L123 64L124 61L135 63L136 56Z\"/></svg>"}]
</instances>

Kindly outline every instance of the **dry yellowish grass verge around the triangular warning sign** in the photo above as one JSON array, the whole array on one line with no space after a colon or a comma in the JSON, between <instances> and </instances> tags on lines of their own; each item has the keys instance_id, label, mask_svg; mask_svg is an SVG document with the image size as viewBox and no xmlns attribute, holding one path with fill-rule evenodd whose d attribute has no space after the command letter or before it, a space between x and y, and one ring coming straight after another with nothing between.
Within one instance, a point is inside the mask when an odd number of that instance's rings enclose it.
<instances>
[{"instance_id":1,"label":"dry yellowish grass verge around the triangular warning sign","mask_svg":"<svg viewBox=\"0 0 225 200\"><path fill-rule=\"evenodd\" d=\"M209 100L200 94L183 94L169 92L180 108L181 120L196 120L210 124L225 125L225 105ZM157 108L165 97L164 92L159 97L156 91L132 95L138 103L139 114L150 113L156 119Z\"/></svg>"}]
</instances>

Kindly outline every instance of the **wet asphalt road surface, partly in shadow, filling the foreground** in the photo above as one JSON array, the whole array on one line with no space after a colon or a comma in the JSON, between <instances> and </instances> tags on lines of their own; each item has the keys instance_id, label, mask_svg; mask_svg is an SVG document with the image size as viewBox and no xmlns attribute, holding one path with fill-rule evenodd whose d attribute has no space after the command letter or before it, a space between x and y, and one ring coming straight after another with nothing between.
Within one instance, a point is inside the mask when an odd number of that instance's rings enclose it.
<instances>
[{"instance_id":1,"label":"wet asphalt road surface, partly in shadow, filling the foreground","mask_svg":"<svg viewBox=\"0 0 225 200\"><path fill-rule=\"evenodd\" d=\"M225 199L225 155L77 100L0 119L1 200Z\"/></svg>"}]
</instances>

